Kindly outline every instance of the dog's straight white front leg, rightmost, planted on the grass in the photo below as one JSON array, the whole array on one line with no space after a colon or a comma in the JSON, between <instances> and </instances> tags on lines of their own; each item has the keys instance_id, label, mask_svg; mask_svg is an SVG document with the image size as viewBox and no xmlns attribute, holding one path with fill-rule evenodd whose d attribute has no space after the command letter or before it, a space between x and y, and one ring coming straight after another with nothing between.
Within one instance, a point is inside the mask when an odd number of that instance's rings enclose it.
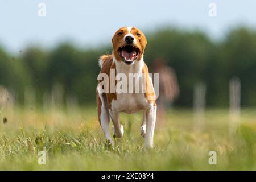
<instances>
[{"instance_id":1,"label":"dog's straight white front leg, rightmost, planted on the grass","mask_svg":"<svg viewBox=\"0 0 256 182\"><path fill-rule=\"evenodd\" d=\"M153 147L153 138L155 130L156 121L156 106L151 105L150 108L146 110L146 135L145 135L145 147Z\"/></svg>"}]
</instances>

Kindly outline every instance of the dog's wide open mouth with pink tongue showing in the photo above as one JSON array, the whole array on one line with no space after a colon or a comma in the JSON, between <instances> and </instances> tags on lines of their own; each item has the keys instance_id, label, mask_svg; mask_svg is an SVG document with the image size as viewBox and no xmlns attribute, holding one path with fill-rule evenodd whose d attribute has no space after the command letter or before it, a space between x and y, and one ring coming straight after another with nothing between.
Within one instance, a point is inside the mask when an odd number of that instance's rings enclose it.
<instances>
[{"instance_id":1,"label":"dog's wide open mouth with pink tongue showing","mask_svg":"<svg viewBox=\"0 0 256 182\"><path fill-rule=\"evenodd\" d=\"M123 47L119 47L118 53L125 64L131 65L133 61L138 58L140 51L138 47L126 45Z\"/></svg>"}]
</instances>

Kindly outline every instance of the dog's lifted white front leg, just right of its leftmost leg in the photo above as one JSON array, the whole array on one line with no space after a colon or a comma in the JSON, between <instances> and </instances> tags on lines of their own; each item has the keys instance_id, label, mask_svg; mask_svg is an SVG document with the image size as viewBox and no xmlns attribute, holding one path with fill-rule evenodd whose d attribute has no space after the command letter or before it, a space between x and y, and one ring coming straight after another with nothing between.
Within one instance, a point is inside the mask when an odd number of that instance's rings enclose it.
<instances>
[{"instance_id":1,"label":"dog's lifted white front leg, just right of its leftmost leg","mask_svg":"<svg viewBox=\"0 0 256 182\"><path fill-rule=\"evenodd\" d=\"M119 120L119 113L117 111L109 110L110 118L112 119L113 122L113 133L115 137L123 137L123 125L120 124Z\"/></svg>"}]
</instances>

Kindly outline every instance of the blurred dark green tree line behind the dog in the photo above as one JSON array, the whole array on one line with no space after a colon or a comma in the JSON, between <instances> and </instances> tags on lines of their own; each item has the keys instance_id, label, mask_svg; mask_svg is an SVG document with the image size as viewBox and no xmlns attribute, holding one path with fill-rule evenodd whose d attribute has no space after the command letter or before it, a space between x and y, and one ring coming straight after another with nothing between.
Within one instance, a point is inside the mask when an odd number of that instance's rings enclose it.
<instances>
[{"instance_id":1,"label":"blurred dark green tree line behind the dog","mask_svg":"<svg viewBox=\"0 0 256 182\"><path fill-rule=\"evenodd\" d=\"M172 28L146 34L148 45L144 60L149 67L162 58L175 69L180 85L176 106L191 106L193 88L198 82L207 86L208 106L228 106L229 80L241 79L242 106L256 106L256 31L245 27L231 30L221 41L204 32ZM36 103L42 104L56 85L61 99L74 98L81 105L95 102L98 57L112 48L81 49L70 43L47 51L28 47L13 56L0 48L0 85L24 103L24 93L32 88Z\"/></svg>"}]
</instances>

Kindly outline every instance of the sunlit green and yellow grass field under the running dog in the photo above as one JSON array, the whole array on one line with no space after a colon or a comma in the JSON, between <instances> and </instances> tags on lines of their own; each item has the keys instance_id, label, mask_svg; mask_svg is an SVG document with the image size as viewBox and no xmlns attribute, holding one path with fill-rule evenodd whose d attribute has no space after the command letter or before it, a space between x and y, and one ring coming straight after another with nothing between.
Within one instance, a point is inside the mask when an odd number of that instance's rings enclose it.
<instances>
[{"instance_id":1,"label":"sunlit green and yellow grass field under the running dog","mask_svg":"<svg viewBox=\"0 0 256 182\"><path fill-rule=\"evenodd\" d=\"M3 118L6 117L5 123ZM241 127L229 135L229 111L207 110L199 130L191 110L171 110L157 123L154 150L143 150L141 114L121 115L125 136L105 144L95 107L13 108L0 113L2 170L205 170L256 169L256 111L241 112ZM46 150L46 165L38 152ZM208 163L209 151L217 164Z\"/></svg>"}]
</instances>

